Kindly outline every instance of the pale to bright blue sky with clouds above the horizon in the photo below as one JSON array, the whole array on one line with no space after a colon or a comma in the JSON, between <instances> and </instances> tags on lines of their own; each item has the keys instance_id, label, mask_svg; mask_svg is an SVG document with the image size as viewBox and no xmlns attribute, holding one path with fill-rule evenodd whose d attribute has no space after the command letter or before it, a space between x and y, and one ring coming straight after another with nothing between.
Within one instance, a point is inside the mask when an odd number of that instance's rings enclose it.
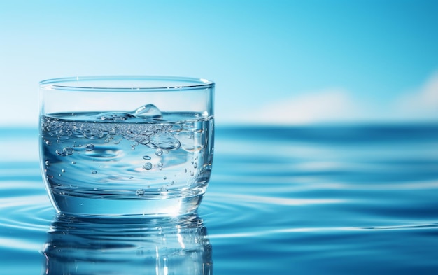
<instances>
[{"instance_id":1,"label":"pale to bright blue sky with clouds above the horizon","mask_svg":"<svg viewBox=\"0 0 438 275\"><path fill-rule=\"evenodd\" d=\"M30 3L29 3L30 2ZM38 81L216 82L218 124L438 121L438 1L1 1L0 125Z\"/></svg>"}]
</instances>

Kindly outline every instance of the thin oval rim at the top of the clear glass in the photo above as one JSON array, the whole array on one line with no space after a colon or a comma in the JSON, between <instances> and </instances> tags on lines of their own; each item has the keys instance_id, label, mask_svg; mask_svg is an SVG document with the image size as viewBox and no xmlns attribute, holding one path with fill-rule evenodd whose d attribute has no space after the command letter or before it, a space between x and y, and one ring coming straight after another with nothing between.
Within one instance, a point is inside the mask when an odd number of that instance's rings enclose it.
<instances>
[{"instance_id":1,"label":"thin oval rim at the top of the clear glass","mask_svg":"<svg viewBox=\"0 0 438 275\"><path fill-rule=\"evenodd\" d=\"M127 85L129 83L132 85ZM155 85L152 85L153 83ZM73 76L42 80L39 85L44 90L152 92L208 89L213 88L215 83L204 78L182 76Z\"/></svg>"}]
</instances>

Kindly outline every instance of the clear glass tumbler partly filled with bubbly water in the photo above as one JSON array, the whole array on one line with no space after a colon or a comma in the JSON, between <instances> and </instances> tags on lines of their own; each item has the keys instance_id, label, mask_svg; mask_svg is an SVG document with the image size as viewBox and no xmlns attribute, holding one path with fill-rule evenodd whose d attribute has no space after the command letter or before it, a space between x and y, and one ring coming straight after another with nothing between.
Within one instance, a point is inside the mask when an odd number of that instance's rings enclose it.
<instances>
[{"instance_id":1,"label":"clear glass tumbler partly filled with bubbly water","mask_svg":"<svg viewBox=\"0 0 438 275\"><path fill-rule=\"evenodd\" d=\"M213 161L214 83L88 76L40 83L40 160L58 213L195 212Z\"/></svg>"}]
</instances>

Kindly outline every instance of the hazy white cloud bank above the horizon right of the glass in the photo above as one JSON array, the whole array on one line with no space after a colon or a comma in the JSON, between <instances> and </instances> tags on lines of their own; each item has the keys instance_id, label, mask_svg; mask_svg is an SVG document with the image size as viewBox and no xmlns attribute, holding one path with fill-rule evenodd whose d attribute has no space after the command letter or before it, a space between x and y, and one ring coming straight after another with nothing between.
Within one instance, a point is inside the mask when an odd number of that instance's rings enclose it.
<instances>
[{"instance_id":1,"label":"hazy white cloud bank above the horizon right of the glass","mask_svg":"<svg viewBox=\"0 0 438 275\"><path fill-rule=\"evenodd\" d=\"M254 111L256 110L256 111ZM239 122L299 125L320 122L438 122L438 71L421 87L382 104L363 101L341 88L306 92L239 110Z\"/></svg>"}]
</instances>

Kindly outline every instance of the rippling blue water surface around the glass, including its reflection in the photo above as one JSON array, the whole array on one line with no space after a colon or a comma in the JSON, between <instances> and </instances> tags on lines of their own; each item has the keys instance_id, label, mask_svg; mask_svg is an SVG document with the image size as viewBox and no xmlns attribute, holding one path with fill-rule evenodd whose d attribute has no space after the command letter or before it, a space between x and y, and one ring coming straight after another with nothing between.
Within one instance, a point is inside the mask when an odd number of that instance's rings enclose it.
<instances>
[{"instance_id":1,"label":"rippling blue water surface around the glass, including its reflection","mask_svg":"<svg viewBox=\"0 0 438 275\"><path fill-rule=\"evenodd\" d=\"M0 129L0 274L438 274L438 125L216 127L199 211L57 216Z\"/></svg>"}]
</instances>

